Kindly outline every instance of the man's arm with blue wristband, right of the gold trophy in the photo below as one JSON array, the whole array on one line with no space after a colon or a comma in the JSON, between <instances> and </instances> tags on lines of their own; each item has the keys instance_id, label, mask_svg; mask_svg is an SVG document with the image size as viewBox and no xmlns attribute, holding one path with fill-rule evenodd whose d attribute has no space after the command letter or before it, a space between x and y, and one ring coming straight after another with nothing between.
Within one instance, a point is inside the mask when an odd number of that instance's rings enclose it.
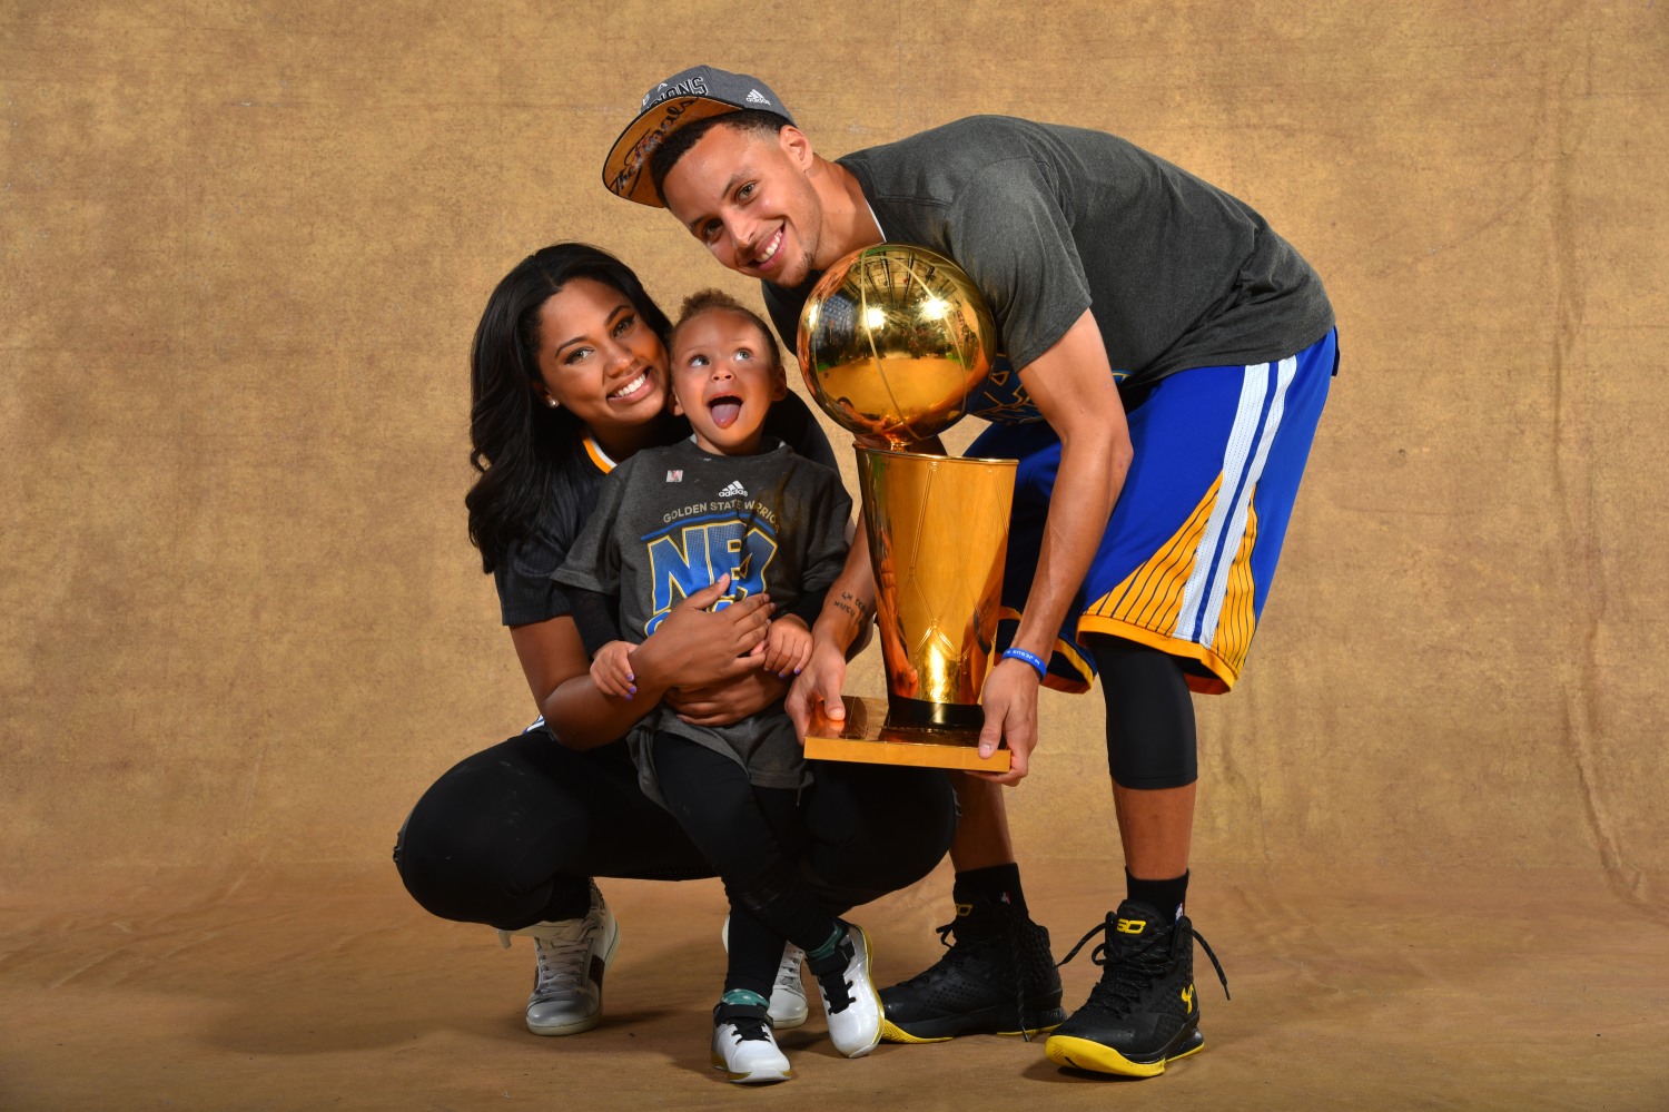
<instances>
[{"instance_id":1,"label":"man's arm with blue wristband, right of the gold trophy","mask_svg":"<svg viewBox=\"0 0 1669 1112\"><path fill-rule=\"evenodd\" d=\"M1107 521L1130 471L1130 427L1102 346L1085 311L1053 347L1020 371L1026 394L1060 437L1060 469L1043 523L1038 566L1013 646L1050 658L1055 636L1107 533ZM1008 741L1010 771L973 773L1018 783L1036 746L1038 673L1025 661L1000 660L985 681L980 755Z\"/></svg>"}]
</instances>

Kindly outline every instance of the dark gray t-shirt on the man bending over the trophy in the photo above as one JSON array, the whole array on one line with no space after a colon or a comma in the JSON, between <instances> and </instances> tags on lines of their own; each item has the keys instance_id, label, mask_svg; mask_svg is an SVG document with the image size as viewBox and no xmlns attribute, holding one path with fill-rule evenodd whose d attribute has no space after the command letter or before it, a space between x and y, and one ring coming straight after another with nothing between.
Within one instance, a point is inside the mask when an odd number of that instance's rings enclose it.
<instances>
[{"instance_id":1,"label":"dark gray t-shirt on the man bending over the trophy","mask_svg":"<svg viewBox=\"0 0 1669 1112\"><path fill-rule=\"evenodd\" d=\"M1025 369L1093 311L1122 386L1290 356L1334 326L1315 270L1252 207L1140 147L1078 127L981 115L858 150L851 170L888 242L955 259ZM794 346L813 275L764 287ZM976 416L1006 409L993 391Z\"/></svg>"}]
</instances>

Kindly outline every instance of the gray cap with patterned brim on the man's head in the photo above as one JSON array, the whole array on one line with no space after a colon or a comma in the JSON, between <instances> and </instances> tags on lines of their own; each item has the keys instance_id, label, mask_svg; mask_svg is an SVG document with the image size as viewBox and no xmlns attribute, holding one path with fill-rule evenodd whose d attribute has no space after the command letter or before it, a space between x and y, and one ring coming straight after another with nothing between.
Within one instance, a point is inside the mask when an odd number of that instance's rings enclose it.
<instances>
[{"instance_id":1,"label":"gray cap with patterned brim on the man's head","mask_svg":"<svg viewBox=\"0 0 1669 1112\"><path fill-rule=\"evenodd\" d=\"M686 124L754 109L794 122L769 85L756 77L716 70L711 65L673 73L643 95L638 119L621 132L603 162L603 184L618 197L664 209L659 190L649 180L649 155L654 149Z\"/></svg>"}]
</instances>

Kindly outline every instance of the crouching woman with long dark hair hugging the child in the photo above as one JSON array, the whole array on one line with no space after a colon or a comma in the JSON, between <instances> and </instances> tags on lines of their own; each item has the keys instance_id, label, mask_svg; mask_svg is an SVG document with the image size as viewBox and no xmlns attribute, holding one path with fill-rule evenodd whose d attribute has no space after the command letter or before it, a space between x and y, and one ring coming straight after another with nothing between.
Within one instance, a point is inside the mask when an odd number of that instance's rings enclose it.
<instances>
[{"instance_id":1,"label":"crouching woman with long dark hair hugging the child","mask_svg":"<svg viewBox=\"0 0 1669 1112\"><path fill-rule=\"evenodd\" d=\"M638 696L609 700L569 603L551 581L613 466L689 436L668 409L671 326L638 277L584 244L524 259L487 301L471 352L469 536L494 576L504 624L542 715L466 758L417 801L394 848L407 892L442 918L534 938L527 1029L596 1027L619 930L592 877L711 877L679 825L649 801L618 740L658 701L724 725L781 700L786 683L746 653L769 603L706 613L693 594L633 655ZM833 466L804 402L773 406L768 429ZM930 770L821 765L803 801L799 865L834 912L915 883L955 826L948 781ZM804 1020L798 953L784 955L771 1020ZM798 998L794 998L798 995Z\"/></svg>"}]
</instances>

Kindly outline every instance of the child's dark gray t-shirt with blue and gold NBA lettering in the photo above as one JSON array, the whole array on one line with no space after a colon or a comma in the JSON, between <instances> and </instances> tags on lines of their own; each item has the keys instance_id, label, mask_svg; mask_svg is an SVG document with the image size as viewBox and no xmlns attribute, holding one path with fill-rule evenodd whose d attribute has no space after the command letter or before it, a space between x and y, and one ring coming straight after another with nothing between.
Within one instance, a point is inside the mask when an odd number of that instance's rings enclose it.
<instances>
[{"instance_id":1,"label":"child's dark gray t-shirt with blue and gold NBA lettering","mask_svg":"<svg viewBox=\"0 0 1669 1112\"><path fill-rule=\"evenodd\" d=\"M641 643L704 586L731 574L724 606L769 593L776 613L826 589L846 561L851 499L840 474L781 442L756 456L709 456L694 441L646 447L603 481L598 508L552 579L619 599L624 639ZM639 781L661 800L648 743L674 733L726 753L759 788L799 788L804 760L778 703L729 726L679 721L668 706L628 736Z\"/></svg>"}]
</instances>

